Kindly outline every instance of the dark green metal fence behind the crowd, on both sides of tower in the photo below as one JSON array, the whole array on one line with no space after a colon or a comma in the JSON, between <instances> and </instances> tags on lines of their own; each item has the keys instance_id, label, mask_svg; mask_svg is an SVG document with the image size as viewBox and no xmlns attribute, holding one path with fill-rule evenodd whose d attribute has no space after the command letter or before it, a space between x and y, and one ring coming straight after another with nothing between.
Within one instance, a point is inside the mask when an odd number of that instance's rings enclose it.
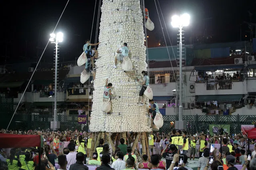
<instances>
[{"instance_id":1,"label":"dark green metal fence behind the crowd, on both sides of tower","mask_svg":"<svg viewBox=\"0 0 256 170\"><path fill-rule=\"evenodd\" d=\"M10 122L11 117L2 117L2 121ZM60 130L88 130L88 125L78 124L78 115L58 115L60 121ZM179 118L177 115L163 116L163 127L160 132L166 134L175 128L175 121ZM183 120L186 122L186 130L189 134L196 132L207 132L209 125L230 125L230 134L241 132L241 125L254 125L256 115L184 115ZM53 121L52 115L14 115L10 129L48 129L50 128L50 121ZM8 125L8 124L7 124ZM0 124L0 128L6 128L6 124Z\"/></svg>"}]
</instances>

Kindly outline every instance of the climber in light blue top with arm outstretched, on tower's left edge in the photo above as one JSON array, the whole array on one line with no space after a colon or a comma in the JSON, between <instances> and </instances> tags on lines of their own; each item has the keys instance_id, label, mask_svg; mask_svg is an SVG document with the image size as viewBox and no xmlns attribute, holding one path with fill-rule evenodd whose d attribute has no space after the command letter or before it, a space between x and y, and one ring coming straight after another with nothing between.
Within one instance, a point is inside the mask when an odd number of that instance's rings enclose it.
<instances>
[{"instance_id":1,"label":"climber in light blue top with arm outstretched, on tower's left edge","mask_svg":"<svg viewBox=\"0 0 256 170\"><path fill-rule=\"evenodd\" d=\"M85 51L87 56L87 61L85 63L85 69L87 70L87 72L90 71L88 70L88 67L90 67L90 63L92 63L93 68L95 68L94 58L97 59L98 57L98 51L95 48L91 49L91 46L94 46L94 45L99 45L99 43L90 43L90 40L87 40L86 44L83 46L83 50Z\"/></svg>"}]
</instances>

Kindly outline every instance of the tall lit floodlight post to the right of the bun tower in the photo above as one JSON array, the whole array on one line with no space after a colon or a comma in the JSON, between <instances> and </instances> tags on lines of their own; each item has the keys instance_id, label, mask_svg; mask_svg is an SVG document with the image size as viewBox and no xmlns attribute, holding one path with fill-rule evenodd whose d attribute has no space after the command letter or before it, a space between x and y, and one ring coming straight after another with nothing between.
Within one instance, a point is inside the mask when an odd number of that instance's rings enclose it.
<instances>
[{"instance_id":1,"label":"tall lit floodlight post to the right of the bun tower","mask_svg":"<svg viewBox=\"0 0 256 170\"><path fill-rule=\"evenodd\" d=\"M182 106L182 28L189 25L189 14L182 14L181 16L172 16L171 25L173 28L179 28L179 122L177 127L184 128L183 123L183 106ZM175 123L176 125L176 123Z\"/></svg>"}]
</instances>

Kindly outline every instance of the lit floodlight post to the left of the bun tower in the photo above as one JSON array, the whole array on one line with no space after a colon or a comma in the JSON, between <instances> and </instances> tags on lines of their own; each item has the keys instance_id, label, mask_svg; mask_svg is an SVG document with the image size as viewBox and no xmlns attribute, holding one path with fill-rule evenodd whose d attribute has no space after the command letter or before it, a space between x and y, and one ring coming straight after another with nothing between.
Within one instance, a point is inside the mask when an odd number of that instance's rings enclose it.
<instances>
[{"instance_id":1,"label":"lit floodlight post to the left of the bun tower","mask_svg":"<svg viewBox=\"0 0 256 170\"><path fill-rule=\"evenodd\" d=\"M54 75L54 112L53 121L51 121L51 128L57 130L60 128L60 122L57 121L57 73L58 73L58 43L63 41L62 32L50 34L50 42L55 43L55 75Z\"/></svg>"}]
</instances>

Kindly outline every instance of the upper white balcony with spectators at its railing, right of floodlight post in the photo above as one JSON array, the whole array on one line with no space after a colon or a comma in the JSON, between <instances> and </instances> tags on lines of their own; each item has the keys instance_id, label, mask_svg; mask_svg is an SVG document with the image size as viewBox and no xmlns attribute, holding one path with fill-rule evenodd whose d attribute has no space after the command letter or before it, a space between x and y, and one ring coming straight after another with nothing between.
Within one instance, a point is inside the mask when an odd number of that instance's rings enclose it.
<instances>
[{"instance_id":1,"label":"upper white balcony with spectators at its railing, right of floodlight post","mask_svg":"<svg viewBox=\"0 0 256 170\"><path fill-rule=\"evenodd\" d=\"M246 84L246 81L238 80L196 82L196 95L246 94Z\"/></svg>"}]
</instances>

